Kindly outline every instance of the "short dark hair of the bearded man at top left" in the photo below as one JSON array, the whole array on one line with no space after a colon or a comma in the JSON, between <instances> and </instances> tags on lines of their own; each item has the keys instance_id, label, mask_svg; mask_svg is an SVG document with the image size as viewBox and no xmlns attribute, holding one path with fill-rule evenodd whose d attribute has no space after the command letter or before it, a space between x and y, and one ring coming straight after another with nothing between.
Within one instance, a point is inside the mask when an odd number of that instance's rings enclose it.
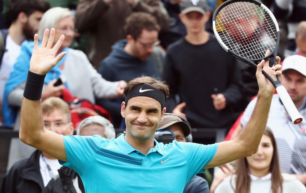
<instances>
[{"instance_id":1,"label":"short dark hair of the bearded man at top left","mask_svg":"<svg viewBox=\"0 0 306 193\"><path fill-rule=\"evenodd\" d=\"M50 9L50 3L43 0L11 0L9 11L6 13L6 24L10 26L21 12L29 16L35 11L45 13L48 9Z\"/></svg>"}]
</instances>

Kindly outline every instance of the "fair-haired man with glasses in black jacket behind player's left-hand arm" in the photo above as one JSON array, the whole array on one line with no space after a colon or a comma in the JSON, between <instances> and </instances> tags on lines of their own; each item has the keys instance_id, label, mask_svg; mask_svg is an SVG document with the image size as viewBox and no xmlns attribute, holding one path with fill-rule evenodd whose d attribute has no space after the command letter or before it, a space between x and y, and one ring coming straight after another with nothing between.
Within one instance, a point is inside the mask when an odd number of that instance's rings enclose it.
<instances>
[{"instance_id":1,"label":"fair-haired man with glasses in black jacket behind player's left-hand arm","mask_svg":"<svg viewBox=\"0 0 306 193\"><path fill-rule=\"evenodd\" d=\"M42 102L45 128L60 135L72 135L73 123L68 104L58 97ZM50 155L36 150L29 158L17 161L2 181L0 192L40 193L62 165Z\"/></svg>"}]
</instances>

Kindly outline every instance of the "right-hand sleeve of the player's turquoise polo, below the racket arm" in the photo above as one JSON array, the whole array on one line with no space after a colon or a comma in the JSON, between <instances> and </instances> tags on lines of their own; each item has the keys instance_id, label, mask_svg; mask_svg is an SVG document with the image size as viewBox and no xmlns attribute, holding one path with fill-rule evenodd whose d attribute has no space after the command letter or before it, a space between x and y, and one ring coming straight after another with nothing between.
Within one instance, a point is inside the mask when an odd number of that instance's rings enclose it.
<instances>
[{"instance_id":1,"label":"right-hand sleeve of the player's turquoise polo, below the racket arm","mask_svg":"<svg viewBox=\"0 0 306 193\"><path fill-rule=\"evenodd\" d=\"M215 156L218 143L203 145L198 143L182 143L189 164L189 179L197 173L204 173L203 169Z\"/></svg>"}]
</instances>

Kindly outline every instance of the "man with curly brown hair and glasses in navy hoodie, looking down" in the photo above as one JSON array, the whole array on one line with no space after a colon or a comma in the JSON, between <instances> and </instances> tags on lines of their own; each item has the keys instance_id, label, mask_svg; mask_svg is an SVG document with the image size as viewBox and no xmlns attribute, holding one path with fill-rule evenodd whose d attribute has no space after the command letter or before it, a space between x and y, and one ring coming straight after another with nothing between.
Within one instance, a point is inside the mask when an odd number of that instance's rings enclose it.
<instances>
[{"instance_id":1,"label":"man with curly brown hair and glasses in navy hoodie, looking down","mask_svg":"<svg viewBox=\"0 0 306 193\"><path fill-rule=\"evenodd\" d=\"M116 42L112 52L101 63L98 72L105 80L130 80L145 76L160 77L162 70L162 52L159 47L160 26L155 17L148 13L133 13L125 24L126 39ZM115 128L121 125L120 99L100 99L97 104L110 112ZM124 123L124 122L122 122Z\"/></svg>"}]
</instances>

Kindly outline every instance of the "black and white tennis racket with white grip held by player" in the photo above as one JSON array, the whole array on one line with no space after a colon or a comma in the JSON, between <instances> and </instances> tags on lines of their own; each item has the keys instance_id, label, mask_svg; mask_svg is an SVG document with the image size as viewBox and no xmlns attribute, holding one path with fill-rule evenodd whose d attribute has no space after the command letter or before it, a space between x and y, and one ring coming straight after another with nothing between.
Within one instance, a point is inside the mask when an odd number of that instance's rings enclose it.
<instances>
[{"instance_id":1,"label":"black and white tennis racket with white grip held by player","mask_svg":"<svg viewBox=\"0 0 306 193\"><path fill-rule=\"evenodd\" d=\"M256 0L229 0L221 4L213 16L213 30L220 45L245 63L257 67L262 60L274 58L279 44L279 28L272 12ZM265 56L267 50L270 54ZM303 118L293 104L278 76L274 80L263 74L274 85L294 124Z\"/></svg>"}]
</instances>

